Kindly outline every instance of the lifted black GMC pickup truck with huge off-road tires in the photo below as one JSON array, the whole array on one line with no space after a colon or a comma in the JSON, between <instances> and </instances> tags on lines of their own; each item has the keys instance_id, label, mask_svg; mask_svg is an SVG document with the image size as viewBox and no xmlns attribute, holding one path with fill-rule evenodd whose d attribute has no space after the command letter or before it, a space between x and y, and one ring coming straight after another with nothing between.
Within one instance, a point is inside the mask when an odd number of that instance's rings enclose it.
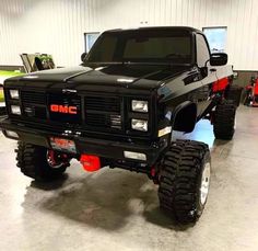
<instances>
[{"instance_id":1,"label":"lifted black GMC pickup truck with huge off-road tires","mask_svg":"<svg viewBox=\"0 0 258 251\"><path fill-rule=\"evenodd\" d=\"M17 167L27 176L60 178L72 158L87 171L145 173L160 185L161 208L192 223L207 202L210 151L172 134L207 118L215 138L233 137L239 90L226 64L196 28L107 31L79 67L8 79L0 127L19 140Z\"/></svg>"}]
</instances>

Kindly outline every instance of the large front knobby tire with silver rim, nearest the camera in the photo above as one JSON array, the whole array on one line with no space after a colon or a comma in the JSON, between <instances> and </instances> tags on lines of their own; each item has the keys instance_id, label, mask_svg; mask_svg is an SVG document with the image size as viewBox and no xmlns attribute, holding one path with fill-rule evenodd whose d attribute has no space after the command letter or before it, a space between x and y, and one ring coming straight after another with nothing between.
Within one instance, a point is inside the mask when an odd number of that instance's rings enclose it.
<instances>
[{"instance_id":1,"label":"large front knobby tire with silver rim, nearest the camera","mask_svg":"<svg viewBox=\"0 0 258 251\"><path fill-rule=\"evenodd\" d=\"M161 208L180 224L196 223L207 203L210 171L208 145L190 140L172 142L161 162Z\"/></svg>"}]
</instances>

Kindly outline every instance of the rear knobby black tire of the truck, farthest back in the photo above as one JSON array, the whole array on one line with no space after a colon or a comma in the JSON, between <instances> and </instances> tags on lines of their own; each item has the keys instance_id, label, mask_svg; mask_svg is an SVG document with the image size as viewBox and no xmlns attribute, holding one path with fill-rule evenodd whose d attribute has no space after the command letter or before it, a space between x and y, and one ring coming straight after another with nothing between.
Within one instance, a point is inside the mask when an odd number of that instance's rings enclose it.
<instances>
[{"instance_id":1,"label":"rear knobby black tire of the truck, farthest back","mask_svg":"<svg viewBox=\"0 0 258 251\"><path fill-rule=\"evenodd\" d=\"M231 140L235 133L236 106L233 101L216 105L213 118L213 133L216 139Z\"/></svg>"}]
</instances>

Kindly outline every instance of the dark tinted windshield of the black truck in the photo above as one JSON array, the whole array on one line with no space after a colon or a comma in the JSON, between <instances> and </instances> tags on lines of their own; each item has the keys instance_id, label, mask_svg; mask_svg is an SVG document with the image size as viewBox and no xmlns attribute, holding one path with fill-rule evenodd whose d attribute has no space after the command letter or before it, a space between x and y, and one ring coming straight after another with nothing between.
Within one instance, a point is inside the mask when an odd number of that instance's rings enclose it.
<instances>
[{"instance_id":1,"label":"dark tinted windshield of the black truck","mask_svg":"<svg viewBox=\"0 0 258 251\"><path fill-rule=\"evenodd\" d=\"M106 32L85 62L191 64L191 35L171 30Z\"/></svg>"}]
</instances>

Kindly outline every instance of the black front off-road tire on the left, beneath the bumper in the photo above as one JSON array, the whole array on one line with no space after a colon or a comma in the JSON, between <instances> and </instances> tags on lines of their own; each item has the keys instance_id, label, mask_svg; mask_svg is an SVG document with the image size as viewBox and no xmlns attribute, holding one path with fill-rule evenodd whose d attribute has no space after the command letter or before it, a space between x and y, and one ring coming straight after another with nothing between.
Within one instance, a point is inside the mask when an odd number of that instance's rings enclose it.
<instances>
[{"instance_id":1,"label":"black front off-road tire on the left, beneath the bumper","mask_svg":"<svg viewBox=\"0 0 258 251\"><path fill-rule=\"evenodd\" d=\"M34 146L23 141L17 142L16 166L21 172L36 181L52 181L62 175L69 161L51 166L48 158L48 149L45 147Z\"/></svg>"}]
</instances>

